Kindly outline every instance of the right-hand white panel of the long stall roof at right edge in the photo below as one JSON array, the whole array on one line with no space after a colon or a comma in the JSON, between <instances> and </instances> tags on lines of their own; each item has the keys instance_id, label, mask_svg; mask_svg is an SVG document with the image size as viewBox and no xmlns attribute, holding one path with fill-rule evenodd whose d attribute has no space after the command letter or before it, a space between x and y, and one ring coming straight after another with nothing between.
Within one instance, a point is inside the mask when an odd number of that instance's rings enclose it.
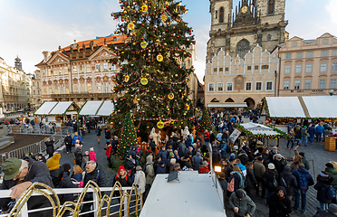
<instances>
[{"instance_id":1,"label":"right-hand white panel of the long stall roof at right edge","mask_svg":"<svg viewBox=\"0 0 337 217\"><path fill-rule=\"evenodd\" d=\"M337 118L337 97L303 97L311 118Z\"/></svg>"}]
</instances>

